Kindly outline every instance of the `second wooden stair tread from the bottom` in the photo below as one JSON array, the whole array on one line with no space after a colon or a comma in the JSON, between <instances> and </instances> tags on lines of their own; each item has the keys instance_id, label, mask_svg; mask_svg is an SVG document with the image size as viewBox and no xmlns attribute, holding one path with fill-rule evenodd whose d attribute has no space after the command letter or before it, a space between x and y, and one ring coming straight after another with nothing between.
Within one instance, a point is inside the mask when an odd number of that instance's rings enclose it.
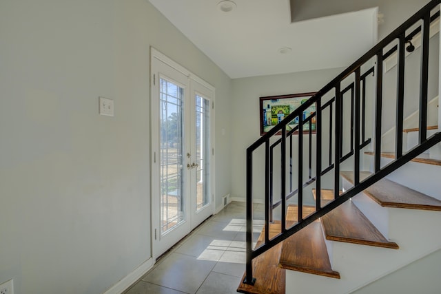
<instances>
[{"instance_id":1,"label":"second wooden stair tread from the bottom","mask_svg":"<svg viewBox=\"0 0 441 294\"><path fill-rule=\"evenodd\" d=\"M340 273L331 269L328 251L320 222L313 222L283 241L279 266L340 279Z\"/></svg>"}]
</instances>

